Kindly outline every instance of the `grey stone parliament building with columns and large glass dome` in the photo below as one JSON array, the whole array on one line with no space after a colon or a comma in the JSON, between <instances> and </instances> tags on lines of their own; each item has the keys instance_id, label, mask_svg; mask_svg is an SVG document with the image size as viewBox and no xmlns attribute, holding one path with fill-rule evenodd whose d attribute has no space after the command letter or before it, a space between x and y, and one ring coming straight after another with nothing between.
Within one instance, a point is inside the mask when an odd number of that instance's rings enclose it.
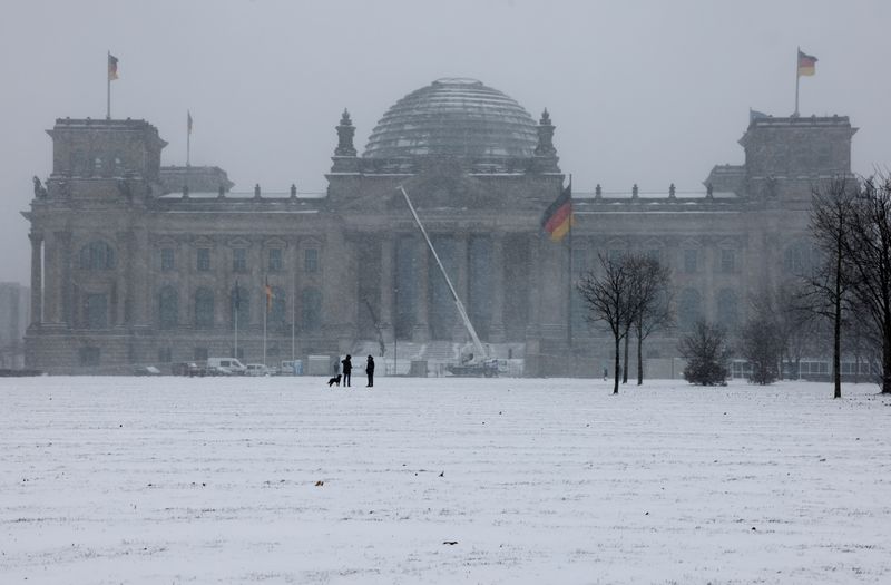
<instances>
[{"instance_id":1,"label":"grey stone parliament building with columns and large glass dome","mask_svg":"<svg viewBox=\"0 0 891 585\"><path fill-rule=\"evenodd\" d=\"M236 313L249 361L264 344L275 363L393 335L464 341L403 186L483 341L516 350L531 376L601 370L610 345L571 300L566 241L541 234L566 182L547 111L536 124L478 81L440 80L391 108L362 155L349 113L336 131L323 196L238 196L216 167L177 185L190 170L160 167L166 143L144 120L57 120L52 174L25 214L28 365L114 372L233 354ZM598 253L657 254L682 326L738 323L751 293L804 261L810 194L850 174L854 131L844 117L758 118L745 164L715 167L704 193L576 192L572 272ZM654 339L649 357L675 345Z\"/></svg>"}]
</instances>

